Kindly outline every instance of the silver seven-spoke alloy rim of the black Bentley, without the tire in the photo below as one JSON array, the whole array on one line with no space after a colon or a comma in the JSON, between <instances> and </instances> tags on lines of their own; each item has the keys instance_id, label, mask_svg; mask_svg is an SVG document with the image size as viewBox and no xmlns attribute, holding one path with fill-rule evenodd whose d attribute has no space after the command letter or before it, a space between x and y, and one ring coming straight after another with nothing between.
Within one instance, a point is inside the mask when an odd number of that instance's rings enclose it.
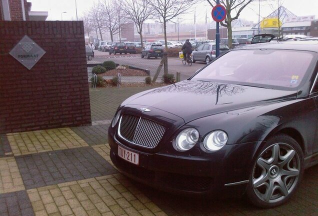
<instances>
[{"instance_id":1,"label":"silver seven-spoke alloy rim of the black Bentley, without the tire","mask_svg":"<svg viewBox=\"0 0 318 216\"><path fill-rule=\"evenodd\" d=\"M278 142L265 148L252 171L252 187L263 202L283 200L296 187L301 171L300 157L289 144Z\"/></svg>"}]
</instances>

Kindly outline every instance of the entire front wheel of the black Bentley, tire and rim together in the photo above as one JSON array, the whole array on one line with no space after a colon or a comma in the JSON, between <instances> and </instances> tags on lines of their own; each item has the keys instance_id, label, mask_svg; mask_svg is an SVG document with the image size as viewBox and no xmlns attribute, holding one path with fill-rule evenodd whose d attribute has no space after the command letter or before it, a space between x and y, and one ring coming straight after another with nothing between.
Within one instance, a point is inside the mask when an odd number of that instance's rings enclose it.
<instances>
[{"instance_id":1,"label":"entire front wheel of the black Bentley, tire and rim together","mask_svg":"<svg viewBox=\"0 0 318 216\"><path fill-rule=\"evenodd\" d=\"M246 195L262 208L285 203L298 187L304 170L299 144L285 134L269 138L252 164Z\"/></svg>"}]
</instances>

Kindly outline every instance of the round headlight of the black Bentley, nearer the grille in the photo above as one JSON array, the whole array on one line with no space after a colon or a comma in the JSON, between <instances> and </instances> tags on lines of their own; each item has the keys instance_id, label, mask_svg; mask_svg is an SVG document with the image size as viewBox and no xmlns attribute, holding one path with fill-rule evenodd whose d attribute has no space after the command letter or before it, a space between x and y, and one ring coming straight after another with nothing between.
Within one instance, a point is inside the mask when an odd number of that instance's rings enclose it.
<instances>
[{"instance_id":1,"label":"round headlight of the black Bentley, nearer the grille","mask_svg":"<svg viewBox=\"0 0 318 216\"><path fill-rule=\"evenodd\" d=\"M193 127L182 130L175 139L175 146L179 151L191 149L197 142L199 132Z\"/></svg>"}]
</instances>

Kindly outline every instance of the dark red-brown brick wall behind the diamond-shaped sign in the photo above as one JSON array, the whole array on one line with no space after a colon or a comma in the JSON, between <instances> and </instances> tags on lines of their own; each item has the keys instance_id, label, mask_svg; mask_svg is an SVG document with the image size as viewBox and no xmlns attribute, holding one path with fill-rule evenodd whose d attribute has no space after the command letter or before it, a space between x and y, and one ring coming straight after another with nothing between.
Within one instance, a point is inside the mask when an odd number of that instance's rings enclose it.
<instances>
[{"instance_id":1,"label":"dark red-brown brick wall behind the diamond-shaped sign","mask_svg":"<svg viewBox=\"0 0 318 216\"><path fill-rule=\"evenodd\" d=\"M8 54L25 34L46 51L30 70ZM82 21L0 21L0 133L90 123Z\"/></svg>"}]
</instances>

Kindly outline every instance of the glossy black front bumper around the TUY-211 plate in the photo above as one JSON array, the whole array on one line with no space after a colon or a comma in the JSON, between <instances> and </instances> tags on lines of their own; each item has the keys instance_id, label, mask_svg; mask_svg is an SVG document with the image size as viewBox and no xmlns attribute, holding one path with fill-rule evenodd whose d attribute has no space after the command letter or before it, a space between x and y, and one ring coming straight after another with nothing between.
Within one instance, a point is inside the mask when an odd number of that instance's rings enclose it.
<instances>
[{"instance_id":1,"label":"glossy black front bumper around the TUY-211 plate","mask_svg":"<svg viewBox=\"0 0 318 216\"><path fill-rule=\"evenodd\" d=\"M243 194L251 170L252 152L257 145L256 142L225 145L213 153L203 152L195 146L180 155L177 154L180 152L163 149L155 153L136 150L119 139L109 127L110 158L123 174L149 186L182 194L223 193L226 190L235 191L231 195ZM120 158L118 145L138 153L139 164ZM244 183L235 184L241 181Z\"/></svg>"}]
</instances>

